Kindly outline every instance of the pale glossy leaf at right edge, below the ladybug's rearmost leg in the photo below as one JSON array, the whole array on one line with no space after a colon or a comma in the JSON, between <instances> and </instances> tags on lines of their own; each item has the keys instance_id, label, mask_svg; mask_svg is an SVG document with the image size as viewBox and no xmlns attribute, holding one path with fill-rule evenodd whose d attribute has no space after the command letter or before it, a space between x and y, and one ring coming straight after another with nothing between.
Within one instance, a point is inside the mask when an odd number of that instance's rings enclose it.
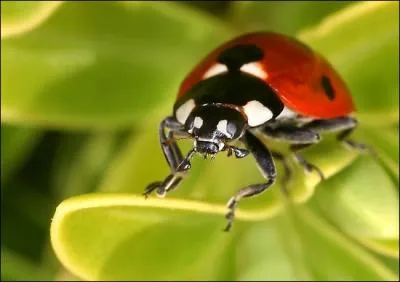
<instances>
[{"instance_id":1,"label":"pale glossy leaf at right edge, below the ladybug's rearmost leg","mask_svg":"<svg viewBox=\"0 0 400 282\"><path fill-rule=\"evenodd\" d=\"M338 175L325 181L313 200L341 230L362 242L382 245L387 253L398 253L399 201L385 171L368 157L360 157ZM376 241L374 241L376 240ZM382 242L381 244L379 242Z\"/></svg>"}]
</instances>

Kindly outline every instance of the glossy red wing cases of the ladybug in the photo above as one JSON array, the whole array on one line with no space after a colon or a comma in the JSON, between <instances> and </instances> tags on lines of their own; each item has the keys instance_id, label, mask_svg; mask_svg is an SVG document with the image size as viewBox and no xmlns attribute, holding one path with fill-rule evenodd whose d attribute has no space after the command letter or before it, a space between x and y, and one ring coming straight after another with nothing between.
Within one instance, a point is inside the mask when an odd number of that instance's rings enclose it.
<instances>
[{"instance_id":1,"label":"glossy red wing cases of the ladybug","mask_svg":"<svg viewBox=\"0 0 400 282\"><path fill-rule=\"evenodd\" d=\"M264 51L264 79L286 107L303 116L331 119L355 111L349 90L331 64L298 40L273 32L255 32L232 39L212 51L183 80L178 97L184 96L216 63L222 50L236 44L255 44ZM327 77L329 97L321 83Z\"/></svg>"}]
</instances>

